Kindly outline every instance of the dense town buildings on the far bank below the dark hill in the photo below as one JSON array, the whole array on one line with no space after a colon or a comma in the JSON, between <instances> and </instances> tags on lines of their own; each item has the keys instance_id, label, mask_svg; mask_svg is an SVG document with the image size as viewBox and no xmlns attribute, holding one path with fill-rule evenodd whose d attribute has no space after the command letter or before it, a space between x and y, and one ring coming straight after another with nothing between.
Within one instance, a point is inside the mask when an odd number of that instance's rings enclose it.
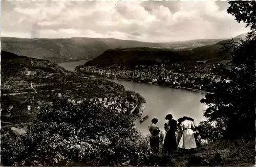
<instances>
[{"instance_id":1,"label":"dense town buildings on the far bank below the dark hill","mask_svg":"<svg viewBox=\"0 0 256 167\"><path fill-rule=\"evenodd\" d=\"M185 66L172 64L166 66L136 66L135 69L111 69L96 66L85 66L80 68L82 72L95 76L118 79L135 79L139 82L162 83L173 86L183 86L194 89L204 89L212 82L219 82L220 76L215 75L213 68L221 67L220 63L212 65Z\"/></svg>"}]
</instances>

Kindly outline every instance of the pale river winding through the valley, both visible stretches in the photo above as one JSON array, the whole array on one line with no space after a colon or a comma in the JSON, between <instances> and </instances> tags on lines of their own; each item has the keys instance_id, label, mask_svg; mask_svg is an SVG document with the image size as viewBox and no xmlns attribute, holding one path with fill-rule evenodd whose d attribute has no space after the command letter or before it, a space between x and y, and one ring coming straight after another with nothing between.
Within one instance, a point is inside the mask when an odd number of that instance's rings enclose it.
<instances>
[{"instance_id":1,"label":"pale river winding through the valley, both visible stretches","mask_svg":"<svg viewBox=\"0 0 256 167\"><path fill-rule=\"evenodd\" d=\"M79 64L80 62L80 64ZM77 65L84 64L84 61L60 63L62 67L68 70L74 70ZM152 118L158 119L158 127L164 129L165 115L171 113L175 120L182 116L193 117L198 125L200 121L205 121L203 110L207 108L201 104L200 100L205 94L183 89L174 89L165 86L155 86L145 83L132 81L110 80L122 84L126 90L139 92L146 99L144 115L149 115L148 120L143 123L136 122L136 127L143 133L147 134L147 126L151 124Z\"/></svg>"}]
</instances>

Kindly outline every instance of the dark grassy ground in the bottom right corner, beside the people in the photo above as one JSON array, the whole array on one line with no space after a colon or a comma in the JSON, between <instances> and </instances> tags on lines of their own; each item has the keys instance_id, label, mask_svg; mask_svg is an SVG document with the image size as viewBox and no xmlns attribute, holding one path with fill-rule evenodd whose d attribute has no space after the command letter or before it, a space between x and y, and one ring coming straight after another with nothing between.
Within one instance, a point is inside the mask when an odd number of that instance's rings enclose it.
<instances>
[{"instance_id":1,"label":"dark grassy ground in the bottom right corner, beside the people","mask_svg":"<svg viewBox=\"0 0 256 167\"><path fill-rule=\"evenodd\" d=\"M177 155L174 166L253 166L255 141L220 139L201 146L193 153Z\"/></svg>"}]
</instances>

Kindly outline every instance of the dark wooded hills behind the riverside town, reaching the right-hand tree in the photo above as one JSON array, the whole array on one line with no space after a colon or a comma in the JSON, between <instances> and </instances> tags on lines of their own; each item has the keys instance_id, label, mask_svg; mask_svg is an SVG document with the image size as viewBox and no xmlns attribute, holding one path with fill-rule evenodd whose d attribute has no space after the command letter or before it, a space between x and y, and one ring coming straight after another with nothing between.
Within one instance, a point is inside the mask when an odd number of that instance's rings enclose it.
<instances>
[{"instance_id":1,"label":"dark wooded hills behind the riverside town, reaching the right-hand tree","mask_svg":"<svg viewBox=\"0 0 256 167\"><path fill-rule=\"evenodd\" d=\"M238 36L241 38L242 35ZM238 41L238 37L233 38ZM165 64L175 62L193 62L199 60L222 61L229 60L229 52L231 49L221 49L223 43L228 40L222 40L212 45L196 47L190 50L174 50L166 48L150 48L150 47L133 47L133 48L117 48L105 51L92 61L88 61L86 65L150 65Z\"/></svg>"}]
</instances>

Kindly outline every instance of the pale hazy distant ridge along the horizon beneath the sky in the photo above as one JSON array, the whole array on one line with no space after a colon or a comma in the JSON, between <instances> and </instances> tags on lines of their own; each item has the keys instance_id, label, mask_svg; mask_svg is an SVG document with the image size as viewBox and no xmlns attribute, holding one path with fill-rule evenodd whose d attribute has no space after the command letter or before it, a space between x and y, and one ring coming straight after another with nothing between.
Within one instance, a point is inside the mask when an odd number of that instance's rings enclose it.
<instances>
[{"instance_id":1,"label":"pale hazy distant ridge along the horizon beneath the sky","mask_svg":"<svg viewBox=\"0 0 256 167\"><path fill-rule=\"evenodd\" d=\"M60 38L60 39L28 39L1 37L2 50L17 55L45 59L54 63L93 59L106 50L118 47L156 47L167 49L193 49L195 47L214 44L223 39L198 39L181 42L151 43L134 40L110 38Z\"/></svg>"}]
</instances>

